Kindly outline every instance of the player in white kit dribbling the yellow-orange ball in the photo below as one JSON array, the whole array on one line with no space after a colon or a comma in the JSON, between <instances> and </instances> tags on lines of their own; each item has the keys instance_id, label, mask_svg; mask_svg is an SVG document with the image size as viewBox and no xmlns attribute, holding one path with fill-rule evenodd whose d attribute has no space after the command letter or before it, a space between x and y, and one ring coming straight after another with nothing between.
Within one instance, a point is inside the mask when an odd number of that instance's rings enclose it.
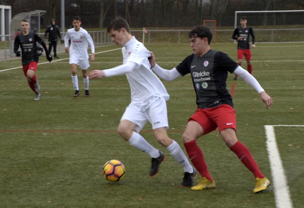
<instances>
[{"instance_id":1,"label":"player in white kit dribbling the yellow-orange ball","mask_svg":"<svg viewBox=\"0 0 304 208\"><path fill-rule=\"evenodd\" d=\"M169 95L163 83L150 69L150 51L130 33L128 22L123 18L114 19L108 26L112 42L122 49L123 65L107 70L94 70L90 79L99 79L126 74L131 88L131 103L126 108L118 127L119 135L131 146L148 153L152 158L150 176L155 176L165 155L150 145L139 132L147 121L152 124L154 136L174 159L184 168L185 176L180 186L191 186L196 170L190 165L185 153L177 142L167 135L169 128L166 101ZM133 131L136 130L136 132Z\"/></svg>"}]
</instances>

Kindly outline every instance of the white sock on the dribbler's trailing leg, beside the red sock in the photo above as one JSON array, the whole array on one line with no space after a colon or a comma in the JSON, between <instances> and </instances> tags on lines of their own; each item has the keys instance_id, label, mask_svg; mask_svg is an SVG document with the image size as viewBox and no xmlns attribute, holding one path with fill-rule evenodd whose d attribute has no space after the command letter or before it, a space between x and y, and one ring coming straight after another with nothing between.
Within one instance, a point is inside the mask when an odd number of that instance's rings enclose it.
<instances>
[{"instance_id":1,"label":"white sock on the dribbler's trailing leg, beside the red sock","mask_svg":"<svg viewBox=\"0 0 304 208\"><path fill-rule=\"evenodd\" d=\"M166 149L169 151L172 157L184 168L184 172L193 173L193 167L190 165L188 158L177 142L173 140L173 143Z\"/></svg>"}]
</instances>

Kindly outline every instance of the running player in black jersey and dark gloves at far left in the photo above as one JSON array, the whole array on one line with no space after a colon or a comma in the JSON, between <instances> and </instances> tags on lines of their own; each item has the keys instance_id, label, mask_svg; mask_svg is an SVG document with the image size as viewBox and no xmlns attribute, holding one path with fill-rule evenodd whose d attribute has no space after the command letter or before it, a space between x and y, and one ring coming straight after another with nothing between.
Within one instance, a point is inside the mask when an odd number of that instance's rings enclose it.
<instances>
[{"instance_id":1,"label":"running player in black jersey and dark gloves at far left","mask_svg":"<svg viewBox=\"0 0 304 208\"><path fill-rule=\"evenodd\" d=\"M27 78L29 86L36 93L34 100L39 100L41 96L39 92L40 86L35 75L39 59L39 55L37 54L36 42L39 42L43 46L47 55L47 60L49 62L52 61L52 56L47 51L47 46L42 41L42 39L36 33L29 32L28 20L22 20L20 28L22 29L22 33L16 36L14 42L14 52L16 53L16 56L20 56L20 51L18 51L20 45L22 52L22 66L24 75Z\"/></svg>"}]
</instances>

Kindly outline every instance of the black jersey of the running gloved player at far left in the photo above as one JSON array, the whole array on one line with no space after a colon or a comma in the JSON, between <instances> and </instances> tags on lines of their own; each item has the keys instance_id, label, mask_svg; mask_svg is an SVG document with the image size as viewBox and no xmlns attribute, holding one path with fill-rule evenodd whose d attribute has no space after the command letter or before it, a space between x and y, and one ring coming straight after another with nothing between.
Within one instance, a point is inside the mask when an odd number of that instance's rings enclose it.
<instances>
[{"instance_id":1,"label":"black jersey of the running gloved player at far left","mask_svg":"<svg viewBox=\"0 0 304 208\"><path fill-rule=\"evenodd\" d=\"M28 35L20 33L16 36L14 49L18 50L20 45L22 52L22 65L28 65L31 61L38 62L39 56L37 54L36 42L41 43L42 39L33 32L29 32Z\"/></svg>"}]
</instances>

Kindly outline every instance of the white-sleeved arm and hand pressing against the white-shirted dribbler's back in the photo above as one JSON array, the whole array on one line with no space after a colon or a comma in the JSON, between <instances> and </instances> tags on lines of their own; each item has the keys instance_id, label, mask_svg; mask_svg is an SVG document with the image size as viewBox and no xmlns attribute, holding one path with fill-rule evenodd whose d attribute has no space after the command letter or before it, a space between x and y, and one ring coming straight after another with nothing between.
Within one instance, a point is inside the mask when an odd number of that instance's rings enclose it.
<instances>
[{"instance_id":1,"label":"white-sleeved arm and hand pressing against the white-shirted dribbler's back","mask_svg":"<svg viewBox=\"0 0 304 208\"><path fill-rule=\"evenodd\" d=\"M149 57L149 63L154 72L157 73L161 78L166 81L172 81L181 76L181 74L175 69L167 70L161 68L159 65L155 63L155 56L153 52L151 52L151 56Z\"/></svg>"}]
</instances>

